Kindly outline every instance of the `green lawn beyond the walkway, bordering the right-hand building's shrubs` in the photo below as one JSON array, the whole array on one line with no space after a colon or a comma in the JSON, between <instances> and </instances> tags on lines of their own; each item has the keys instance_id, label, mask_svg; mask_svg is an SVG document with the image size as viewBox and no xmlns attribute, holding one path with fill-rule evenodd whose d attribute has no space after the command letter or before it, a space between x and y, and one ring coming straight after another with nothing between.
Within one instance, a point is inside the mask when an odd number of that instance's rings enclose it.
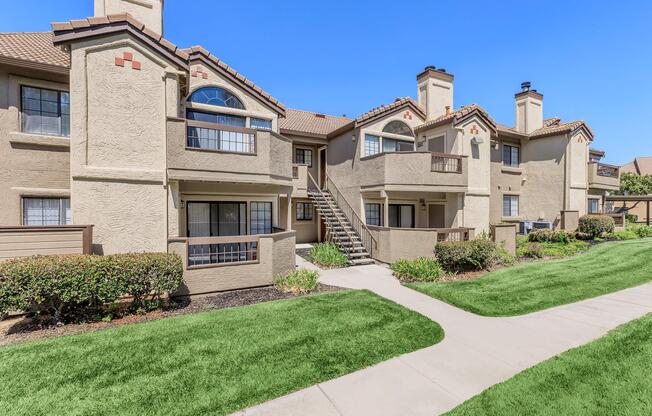
<instances>
[{"instance_id":1,"label":"green lawn beyond the walkway, bordering the right-hand building's shrubs","mask_svg":"<svg viewBox=\"0 0 652 416\"><path fill-rule=\"evenodd\" d=\"M408 286L485 316L513 316L652 280L652 239L603 243L585 254L508 267L472 281Z\"/></svg>"}]
</instances>

